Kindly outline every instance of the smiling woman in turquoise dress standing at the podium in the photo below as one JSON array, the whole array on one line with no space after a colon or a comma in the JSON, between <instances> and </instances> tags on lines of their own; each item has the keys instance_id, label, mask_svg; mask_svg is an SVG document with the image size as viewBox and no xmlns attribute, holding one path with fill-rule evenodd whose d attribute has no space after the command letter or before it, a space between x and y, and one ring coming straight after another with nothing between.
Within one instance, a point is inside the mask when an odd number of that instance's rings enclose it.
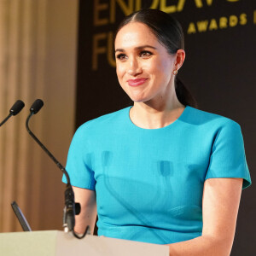
<instances>
[{"instance_id":1,"label":"smiling woman in turquoise dress standing at the podium","mask_svg":"<svg viewBox=\"0 0 256 256\"><path fill-rule=\"evenodd\" d=\"M229 255L250 183L240 126L195 107L175 80L183 32L143 9L119 26L116 72L133 107L79 127L67 172L82 211L75 230L169 244L170 255Z\"/></svg>"}]
</instances>

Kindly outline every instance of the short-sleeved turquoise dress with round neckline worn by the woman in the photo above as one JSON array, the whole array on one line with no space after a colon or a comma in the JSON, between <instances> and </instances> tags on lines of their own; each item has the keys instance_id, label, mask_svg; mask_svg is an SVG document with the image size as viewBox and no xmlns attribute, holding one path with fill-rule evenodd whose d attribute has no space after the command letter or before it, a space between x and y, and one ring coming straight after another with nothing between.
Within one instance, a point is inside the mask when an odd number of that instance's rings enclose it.
<instances>
[{"instance_id":1,"label":"short-sleeved turquoise dress with round neckline worn by the woman","mask_svg":"<svg viewBox=\"0 0 256 256\"><path fill-rule=\"evenodd\" d=\"M96 190L98 235L157 244L201 236L205 180L251 183L240 125L187 106L171 125L143 129L130 109L81 125L68 152L72 185Z\"/></svg>"}]
</instances>

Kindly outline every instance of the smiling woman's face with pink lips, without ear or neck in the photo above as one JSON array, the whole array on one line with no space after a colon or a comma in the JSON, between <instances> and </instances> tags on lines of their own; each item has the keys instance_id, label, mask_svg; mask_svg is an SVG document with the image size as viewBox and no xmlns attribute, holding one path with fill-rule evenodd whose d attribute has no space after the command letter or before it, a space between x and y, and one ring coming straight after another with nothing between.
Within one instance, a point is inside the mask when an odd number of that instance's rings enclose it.
<instances>
[{"instance_id":1,"label":"smiling woman's face with pink lips, without ear or neck","mask_svg":"<svg viewBox=\"0 0 256 256\"><path fill-rule=\"evenodd\" d=\"M119 84L134 102L162 99L172 86L176 55L167 53L148 26L131 22L115 39Z\"/></svg>"}]
</instances>

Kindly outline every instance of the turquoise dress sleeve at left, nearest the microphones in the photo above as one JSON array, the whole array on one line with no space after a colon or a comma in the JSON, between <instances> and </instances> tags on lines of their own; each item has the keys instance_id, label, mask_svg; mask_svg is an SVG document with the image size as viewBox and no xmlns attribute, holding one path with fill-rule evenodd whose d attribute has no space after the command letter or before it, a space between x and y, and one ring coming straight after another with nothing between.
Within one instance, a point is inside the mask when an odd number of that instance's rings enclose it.
<instances>
[{"instance_id":1,"label":"turquoise dress sleeve at left, nearest the microphones","mask_svg":"<svg viewBox=\"0 0 256 256\"><path fill-rule=\"evenodd\" d=\"M96 181L92 171L92 157L90 152L90 134L86 129L86 123L81 125L73 136L67 154L66 170L70 177L70 183L79 188L95 190ZM62 182L67 183L63 175Z\"/></svg>"}]
</instances>

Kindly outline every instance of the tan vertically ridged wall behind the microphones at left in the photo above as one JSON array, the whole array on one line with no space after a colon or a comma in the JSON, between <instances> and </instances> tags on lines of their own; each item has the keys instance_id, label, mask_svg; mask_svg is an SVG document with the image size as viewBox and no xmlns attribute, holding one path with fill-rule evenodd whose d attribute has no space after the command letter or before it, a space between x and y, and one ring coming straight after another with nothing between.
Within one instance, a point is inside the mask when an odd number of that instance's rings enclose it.
<instances>
[{"instance_id":1,"label":"tan vertically ridged wall behind the microphones at left","mask_svg":"<svg viewBox=\"0 0 256 256\"><path fill-rule=\"evenodd\" d=\"M78 10L78 0L0 0L1 121L17 99L26 104L0 127L0 232L21 231L12 201L32 230L62 230L62 174L25 122L32 102L43 99L30 126L64 165L75 119Z\"/></svg>"}]
</instances>

